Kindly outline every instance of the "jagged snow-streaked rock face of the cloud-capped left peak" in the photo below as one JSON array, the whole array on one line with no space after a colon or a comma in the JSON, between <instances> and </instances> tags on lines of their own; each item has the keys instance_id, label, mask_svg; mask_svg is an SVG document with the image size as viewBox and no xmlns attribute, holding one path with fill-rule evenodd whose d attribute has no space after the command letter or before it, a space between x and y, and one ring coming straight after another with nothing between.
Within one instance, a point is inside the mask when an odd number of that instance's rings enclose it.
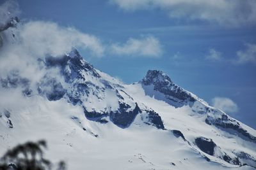
<instances>
[{"instance_id":1,"label":"jagged snow-streaked rock face of the cloud-capped left peak","mask_svg":"<svg viewBox=\"0 0 256 170\"><path fill-rule=\"evenodd\" d=\"M67 97L72 104L81 103L81 98L87 96L90 90L93 90L95 96L100 92L104 92L104 89L100 89L97 85L87 80L86 75L90 75L93 78L100 78L99 73L93 68L92 64L86 62L83 57L73 49L72 52L60 57L45 57L45 66L48 68L58 67L60 69L61 76L63 76L65 83L68 84L69 90L67 90ZM106 89L111 88L106 83ZM95 90L97 92L95 92Z\"/></svg>"}]
</instances>

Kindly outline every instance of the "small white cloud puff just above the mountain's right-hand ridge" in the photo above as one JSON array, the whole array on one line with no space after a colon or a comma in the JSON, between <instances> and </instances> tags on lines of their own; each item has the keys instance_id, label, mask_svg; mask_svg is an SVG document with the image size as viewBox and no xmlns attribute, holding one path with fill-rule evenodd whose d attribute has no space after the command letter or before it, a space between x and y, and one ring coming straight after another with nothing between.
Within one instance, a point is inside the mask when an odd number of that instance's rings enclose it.
<instances>
[{"instance_id":1,"label":"small white cloud puff just above the mountain's right-hand ridge","mask_svg":"<svg viewBox=\"0 0 256 170\"><path fill-rule=\"evenodd\" d=\"M238 111L237 104L227 97L214 97L212 99L212 106L227 113L235 113Z\"/></svg>"}]
</instances>

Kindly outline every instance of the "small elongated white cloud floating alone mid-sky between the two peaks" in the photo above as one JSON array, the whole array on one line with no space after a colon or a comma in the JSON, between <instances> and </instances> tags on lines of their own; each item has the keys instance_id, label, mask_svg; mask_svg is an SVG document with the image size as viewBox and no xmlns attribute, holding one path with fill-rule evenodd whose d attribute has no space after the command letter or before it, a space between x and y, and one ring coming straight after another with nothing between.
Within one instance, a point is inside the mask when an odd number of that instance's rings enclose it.
<instances>
[{"instance_id":1,"label":"small elongated white cloud floating alone mid-sky between the two peaks","mask_svg":"<svg viewBox=\"0 0 256 170\"><path fill-rule=\"evenodd\" d=\"M116 55L131 55L134 57L160 57L163 53L161 43L154 36L140 39L129 38L124 44L111 45L111 52Z\"/></svg>"}]
</instances>

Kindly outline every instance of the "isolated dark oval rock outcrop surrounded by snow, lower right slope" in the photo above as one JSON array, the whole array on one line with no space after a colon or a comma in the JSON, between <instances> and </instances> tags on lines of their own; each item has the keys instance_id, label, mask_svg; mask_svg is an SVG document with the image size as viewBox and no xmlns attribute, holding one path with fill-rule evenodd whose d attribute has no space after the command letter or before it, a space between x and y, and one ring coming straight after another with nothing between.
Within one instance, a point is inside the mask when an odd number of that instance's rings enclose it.
<instances>
[{"instance_id":1,"label":"isolated dark oval rock outcrop surrounded by snow, lower right slope","mask_svg":"<svg viewBox=\"0 0 256 170\"><path fill-rule=\"evenodd\" d=\"M214 155L214 148L216 144L212 141L212 139L207 139L204 137L196 138L195 139L196 146L209 155Z\"/></svg>"}]
</instances>

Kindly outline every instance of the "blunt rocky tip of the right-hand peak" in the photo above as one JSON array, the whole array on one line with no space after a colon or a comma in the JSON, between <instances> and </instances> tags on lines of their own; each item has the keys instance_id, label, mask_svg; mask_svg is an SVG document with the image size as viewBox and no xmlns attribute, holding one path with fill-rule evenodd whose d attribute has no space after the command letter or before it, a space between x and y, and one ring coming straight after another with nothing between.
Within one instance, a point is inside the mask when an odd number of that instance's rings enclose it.
<instances>
[{"instance_id":1,"label":"blunt rocky tip of the right-hand peak","mask_svg":"<svg viewBox=\"0 0 256 170\"><path fill-rule=\"evenodd\" d=\"M161 83L163 85L172 84L171 78L163 71L148 70L147 75L142 80L144 85Z\"/></svg>"}]
</instances>

